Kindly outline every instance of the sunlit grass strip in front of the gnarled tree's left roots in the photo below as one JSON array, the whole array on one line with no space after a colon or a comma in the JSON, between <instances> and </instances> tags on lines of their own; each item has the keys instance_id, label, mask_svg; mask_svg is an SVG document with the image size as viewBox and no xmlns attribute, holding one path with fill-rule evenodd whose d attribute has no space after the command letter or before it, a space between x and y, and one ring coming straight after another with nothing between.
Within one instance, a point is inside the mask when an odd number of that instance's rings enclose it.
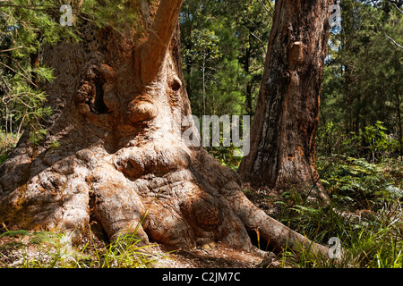
<instances>
[{"instance_id":1,"label":"sunlit grass strip in front of the gnarled tree's left roots","mask_svg":"<svg viewBox=\"0 0 403 286\"><path fill-rule=\"evenodd\" d=\"M141 246L135 233L106 244L90 232L87 243L73 248L62 237L46 231L5 231L0 234L0 268L146 268L162 258L152 245Z\"/></svg>"}]
</instances>

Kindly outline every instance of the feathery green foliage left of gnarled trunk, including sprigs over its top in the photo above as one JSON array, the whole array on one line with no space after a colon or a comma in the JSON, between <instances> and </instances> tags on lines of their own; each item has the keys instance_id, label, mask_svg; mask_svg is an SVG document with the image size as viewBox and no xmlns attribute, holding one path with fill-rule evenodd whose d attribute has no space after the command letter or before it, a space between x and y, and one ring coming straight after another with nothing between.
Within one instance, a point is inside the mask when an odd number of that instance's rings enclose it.
<instances>
[{"instance_id":1,"label":"feathery green foliage left of gnarled trunk, including sprigs over its top","mask_svg":"<svg viewBox=\"0 0 403 286\"><path fill-rule=\"evenodd\" d=\"M80 11L73 5L74 26L63 27L59 23L62 4L59 0L0 2L0 130L17 137L30 130L34 145L46 136L41 122L52 114L42 90L54 80L52 69L41 62L45 46L79 41L84 21L100 28L133 29L139 13L133 1L83 1ZM5 158L2 152L1 161Z\"/></svg>"}]
</instances>

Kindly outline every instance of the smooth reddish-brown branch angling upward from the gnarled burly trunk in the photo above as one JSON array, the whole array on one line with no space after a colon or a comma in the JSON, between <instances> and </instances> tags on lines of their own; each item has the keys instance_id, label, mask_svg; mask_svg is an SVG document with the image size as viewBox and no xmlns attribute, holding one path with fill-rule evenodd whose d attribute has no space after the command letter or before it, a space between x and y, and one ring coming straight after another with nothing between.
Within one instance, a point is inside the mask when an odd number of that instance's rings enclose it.
<instances>
[{"instance_id":1,"label":"smooth reddish-brown branch angling upward from the gnarled burly trunk","mask_svg":"<svg viewBox=\"0 0 403 286\"><path fill-rule=\"evenodd\" d=\"M141 80L155 80L164 63L184 0L161 0L149 38L141 45Z\"/></svg>"}]
</instances>

